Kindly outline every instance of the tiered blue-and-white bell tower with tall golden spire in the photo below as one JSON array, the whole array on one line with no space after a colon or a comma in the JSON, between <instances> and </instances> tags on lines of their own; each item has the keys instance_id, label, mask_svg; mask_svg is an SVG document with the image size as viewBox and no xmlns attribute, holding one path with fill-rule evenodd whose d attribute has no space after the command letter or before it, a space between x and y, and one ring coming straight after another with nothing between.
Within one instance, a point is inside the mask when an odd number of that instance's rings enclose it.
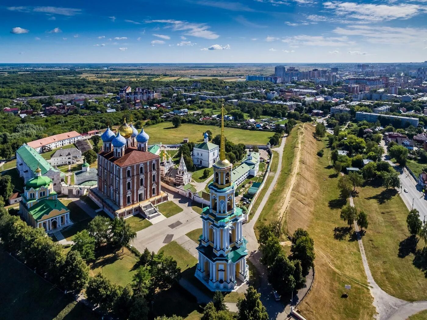
<instances>
[{"instance_id":1,"label":"tiered blue-and-white bell tower with tall golden spire","mask_svg":"<svg viewBox=\"0 0 427 320\"><path fill-rule=\"evenodd\" d=\"M209 183L210 205L202 211L203 233L199 238L199 262L195 276L212 291L232 291L237 279L249 276L243 212L236 207L236 184L231 181L233 165L225 159L224 105L222 105L219 160L213 165Z\"/></svg>"}]
</instances>

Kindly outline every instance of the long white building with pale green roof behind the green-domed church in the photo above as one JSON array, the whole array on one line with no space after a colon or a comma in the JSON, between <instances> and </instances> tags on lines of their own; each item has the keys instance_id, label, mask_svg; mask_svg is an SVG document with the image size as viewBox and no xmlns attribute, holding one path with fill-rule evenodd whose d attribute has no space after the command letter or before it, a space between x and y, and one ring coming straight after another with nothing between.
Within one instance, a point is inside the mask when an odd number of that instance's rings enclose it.
<instances>
[{"instance_id":1,"label":"long white building with pale green roof behind the green-domed church","mask_svg":"<svg viewBox=\"0 0 427 320\"><path fill-rule=\"evenodd\" d=\"M61 181L64 180L64 173L53 168L34 148L25 143L16 151L16 169L19 176L24 179L24 183L37 177L37 169L41 169L41 175L52 180L53 190L61 192Z\"/></svg>"}]
</instances>

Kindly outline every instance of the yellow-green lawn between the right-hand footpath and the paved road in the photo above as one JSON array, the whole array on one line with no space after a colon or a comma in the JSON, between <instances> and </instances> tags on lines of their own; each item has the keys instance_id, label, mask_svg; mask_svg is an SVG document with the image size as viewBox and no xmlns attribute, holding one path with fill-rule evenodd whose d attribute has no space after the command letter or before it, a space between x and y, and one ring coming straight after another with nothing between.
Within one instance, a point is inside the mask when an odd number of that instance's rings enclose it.
<instances>
[{"instance_id":1,"label":"yellow-green lawn between the right-hand footpath and the paved road","mask_svg":"<svg viewBox=\"0 0 427 320\"><path fill-rule=\"evenodd\" d=\"M424 272L412 264L414 254L406 218L409 210L394 190L372 184L358 188L354 205L368 215L369 226L363 236L369 267L375 282L387 293L407 301L427 299ZM418 249L424 241L418 242Z\"/></svg>"}]
</instances>

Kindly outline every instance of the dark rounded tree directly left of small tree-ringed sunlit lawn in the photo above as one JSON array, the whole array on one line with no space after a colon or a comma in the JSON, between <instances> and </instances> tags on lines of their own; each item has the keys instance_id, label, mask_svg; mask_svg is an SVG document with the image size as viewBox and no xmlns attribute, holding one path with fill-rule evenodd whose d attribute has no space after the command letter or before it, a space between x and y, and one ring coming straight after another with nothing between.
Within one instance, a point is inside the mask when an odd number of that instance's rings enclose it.
<instances>
[{"instance_id":1,"label":"dark rounded tree directly left of small tree-ringed sunlit lawn","mask_svg":"<svg viewBox=\"0 0 427 320\"><path fill-rule=\"evenodd\" d=\"M75 250L70 250L61 270L62 284L65 289L80 292L89 280L89 267Z\"/></svg>"}]
</instances>

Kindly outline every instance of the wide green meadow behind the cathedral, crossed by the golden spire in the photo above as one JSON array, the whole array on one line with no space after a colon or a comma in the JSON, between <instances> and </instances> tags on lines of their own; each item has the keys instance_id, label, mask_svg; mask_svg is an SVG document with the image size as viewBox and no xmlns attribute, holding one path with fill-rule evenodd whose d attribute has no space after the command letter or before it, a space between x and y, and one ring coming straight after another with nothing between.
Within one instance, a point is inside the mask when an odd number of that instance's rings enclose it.
<instances>
[{"instance_id":1,"label":"wide green meadow behind the cathedral, crossed by the golden spire","mask_svg":"<svg viewBox=\"0 0 427 320\"><path fill-rule=\"evenodd\" d=\"M203 142L203 133L211 130L213 136L221 133L219 126L195 125L183 123L181 127L174 128L172 122L161 122L144 128L150 136L151 143L173 144L182 143L184 138L189 138L194 143ZM274 132L250 131L237 128L225 128L225 136L234 143L265 145Z\"/></svg>"}]
</instances>

